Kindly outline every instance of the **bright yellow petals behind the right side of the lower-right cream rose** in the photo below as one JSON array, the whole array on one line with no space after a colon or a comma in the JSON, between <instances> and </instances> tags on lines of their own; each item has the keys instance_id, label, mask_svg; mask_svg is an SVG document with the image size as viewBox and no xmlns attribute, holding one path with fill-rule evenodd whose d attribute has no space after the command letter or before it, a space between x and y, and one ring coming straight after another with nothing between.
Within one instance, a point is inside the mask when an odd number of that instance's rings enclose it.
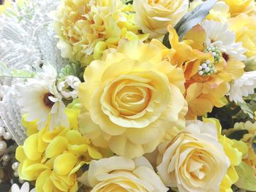
<instances>
[{"instance_id":1,"label":"bright yellow petals behind the right side of the lower-right cream rose","mask_svg":"<svg viewBox=\"0 0 256 192\"><path fill-rule=\"evenodd\" d=\"M225 135L222 135L222 126L220 125L219 120L205 118L203 119L203 122L215 124L218 131L219 142L222 143L225 154L230 159L230 167L227 169L227 174L220 184L219 192L232 192L231 185L238 180L235 166L241 164L242 156L246 153L246 145L244 145L244 142L228 139Z\"/></svg>"}]
</instances>

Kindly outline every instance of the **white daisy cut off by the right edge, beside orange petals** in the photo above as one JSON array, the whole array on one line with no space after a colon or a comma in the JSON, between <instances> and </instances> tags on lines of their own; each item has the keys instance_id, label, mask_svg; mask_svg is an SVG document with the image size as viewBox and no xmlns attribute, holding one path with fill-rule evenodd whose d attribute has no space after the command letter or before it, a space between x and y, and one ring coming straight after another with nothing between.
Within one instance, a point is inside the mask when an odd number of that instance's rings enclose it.
<instances>
[{"instance_id":1,"label":"white daisy cut off by the right edge, beside orange petals","mask_svg":"<svg viewBox=\"0 0 256 192\"><path fill-rule=\"evenodd\" d=\"M245 72L238 80L234 80L230 85L230 101L244 102L243 96L249 96L255 93L256 88L256 71Z\"/></svg>"}]
</instances>

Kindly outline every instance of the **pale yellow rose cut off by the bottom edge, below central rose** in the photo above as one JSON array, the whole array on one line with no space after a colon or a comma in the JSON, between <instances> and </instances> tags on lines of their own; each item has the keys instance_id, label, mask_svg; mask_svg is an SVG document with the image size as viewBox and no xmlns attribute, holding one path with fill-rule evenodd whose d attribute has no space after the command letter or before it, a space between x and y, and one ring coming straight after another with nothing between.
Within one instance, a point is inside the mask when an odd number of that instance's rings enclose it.
<instances>
[{"instance_id":1,"label":"pale yellow rose cut off by the bottom edge, below central rose","mask_svg":"<svg viewBox=\"0 0 256 192\"><path fill-rule=\"evenodd\" d=\"M91 161L89 171L79 179L91 186L91 192L140 191L165 192L153 167L144 157L129 159L121 156Z\"/></svg>"}]
</instances>

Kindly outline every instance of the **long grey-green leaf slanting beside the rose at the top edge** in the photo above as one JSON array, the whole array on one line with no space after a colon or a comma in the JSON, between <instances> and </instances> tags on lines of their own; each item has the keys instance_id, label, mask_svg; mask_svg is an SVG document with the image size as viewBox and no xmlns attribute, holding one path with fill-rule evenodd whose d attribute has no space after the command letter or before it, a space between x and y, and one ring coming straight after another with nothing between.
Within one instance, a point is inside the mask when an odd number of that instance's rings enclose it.
<instances>
[{"instance_id":1,"label":"long grey-green leaf slanting beside the rose at the top edge","mask_svg":"<svg viewBox=\"0 0 256 192\"><path fill-rule=\"evenodd\" d=\"M187 31L196 26L198 23L201 23L201 21L206 18L216 2L217 0L205 1L203 2L203 4L195 7L195 9L193 9L192 11L187 12L187 14L184 15L183 18L181 18L181 20L174 27L177 31L179 41L181 41L184 35L187 34ZM162 43L166 47L171 48L169 42L169 33L165 34Z\"/></svg>"}]
</instances>

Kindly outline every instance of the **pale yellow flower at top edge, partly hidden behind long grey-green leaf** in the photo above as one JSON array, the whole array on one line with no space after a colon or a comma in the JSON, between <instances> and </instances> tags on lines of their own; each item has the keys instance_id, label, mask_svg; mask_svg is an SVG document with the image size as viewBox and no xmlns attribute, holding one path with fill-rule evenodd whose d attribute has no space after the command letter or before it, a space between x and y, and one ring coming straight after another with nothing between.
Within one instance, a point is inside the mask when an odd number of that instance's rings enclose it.
<instances>
[{"instance_id":1,"label":"pale yellow flower at top edge, partly hidden behind long grey-green leaf","mask_svg":"<svg viewBox=\"0 0 256 192\"><path fill-rule=\"evenodd\" d=\"M195 9L198 5L202 4L203 0L195 0L189 4L189 11ZM211 8L209 14L206 16L207 20L221 21L222 23L227 22L230 18L230 8L225 1L217 1L214 7Z\"/></svg>"}]
</instances>

